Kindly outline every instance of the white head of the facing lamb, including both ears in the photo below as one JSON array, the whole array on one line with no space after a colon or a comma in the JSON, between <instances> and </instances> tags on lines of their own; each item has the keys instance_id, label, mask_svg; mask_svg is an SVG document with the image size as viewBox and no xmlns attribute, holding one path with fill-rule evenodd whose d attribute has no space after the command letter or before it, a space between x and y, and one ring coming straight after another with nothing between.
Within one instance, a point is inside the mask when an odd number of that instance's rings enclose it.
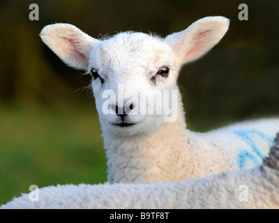
<instances>
[{"instance_id":1,"label":"white head of the facing lamb, including both ears","mask_svg":"<svg viewBox=\"0 0 279 223\"><path fill-rule=\"evenodd\" d=\"M225 17L205 17L166 38L125 32L98 40L73 25L52 24L40 36L68 66L92 75L103 130L127 136L175 120L179 69L216 45L228 26Z\"/></svg>"}]
</instances>

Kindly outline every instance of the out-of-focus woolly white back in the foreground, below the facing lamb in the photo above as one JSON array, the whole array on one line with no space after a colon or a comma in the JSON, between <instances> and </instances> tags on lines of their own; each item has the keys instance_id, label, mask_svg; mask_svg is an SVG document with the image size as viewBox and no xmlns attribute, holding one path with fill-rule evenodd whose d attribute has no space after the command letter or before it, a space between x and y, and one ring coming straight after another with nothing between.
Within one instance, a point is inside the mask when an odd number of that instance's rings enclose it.
<instances>
[{"instance_id":1,"label":"out-of-focus woolly white back in the foreground, below the facing lamb","mask_svg":"<svg viewBox=\"0 0 279 223\"><path fill-rule=\"evenodd\" d=\"M279 134L261 167L172 183L58 185L0 208L279 208Z\"/></svg>"}]
</instances>

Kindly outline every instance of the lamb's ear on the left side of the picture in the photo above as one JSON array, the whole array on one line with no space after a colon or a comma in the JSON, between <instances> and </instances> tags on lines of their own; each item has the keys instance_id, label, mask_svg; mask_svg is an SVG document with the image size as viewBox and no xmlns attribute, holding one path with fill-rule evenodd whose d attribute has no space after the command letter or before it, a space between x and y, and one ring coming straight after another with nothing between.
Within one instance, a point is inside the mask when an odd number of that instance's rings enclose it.
<instances>
[{"instance_id":1,"label":"lamb's ear on the left side of the picture","mask_svg":"<svg viewBox=\"0 0 279 223\"><path fill-rule=\"evenodd\" d=\"M89 55L100 42L71 24L51 24L40 32L40 38L68 66L87 70Z\"/></svg>"}]
</instances>

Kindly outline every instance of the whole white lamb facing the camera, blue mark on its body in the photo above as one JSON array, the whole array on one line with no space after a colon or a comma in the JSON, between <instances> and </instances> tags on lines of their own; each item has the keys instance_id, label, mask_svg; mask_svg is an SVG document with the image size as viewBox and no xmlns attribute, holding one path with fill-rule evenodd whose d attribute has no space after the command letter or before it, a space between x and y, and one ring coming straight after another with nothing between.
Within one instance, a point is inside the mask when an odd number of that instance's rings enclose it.
<instances>
[{"instance_id":1,"label":"whole white lamb facing the camera, blue mark on its body","mask_svg":"<svg viewBox=\"0 0 279 223\"><path fill-rule=\"evenodd\" d=\"M206 133L186 129L179 70L209 52L228 27L216 16L166 38L129 31L98 40L71 24L41 31L62 61L92 76L109 183L173 182L260 165L279 118Z\"/></svg>"}]
</instances>

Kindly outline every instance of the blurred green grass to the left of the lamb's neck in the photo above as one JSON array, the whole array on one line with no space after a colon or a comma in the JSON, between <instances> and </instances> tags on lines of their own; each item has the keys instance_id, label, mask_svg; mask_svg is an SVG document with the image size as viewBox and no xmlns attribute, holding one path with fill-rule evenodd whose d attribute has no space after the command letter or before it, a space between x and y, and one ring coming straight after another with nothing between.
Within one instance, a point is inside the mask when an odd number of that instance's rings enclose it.
<instances>
[{"instance_id":1,"label":"blurred green grass to the left of the lamb's neck","mask_svg":"<svg viewBox=\"0 0 279 223\"><path fill-rule=\"evenodd\" d=\"M30 185L103 183L106 171L93 105L0 107L0 204Z\"/></svg>"}]
</instances>

